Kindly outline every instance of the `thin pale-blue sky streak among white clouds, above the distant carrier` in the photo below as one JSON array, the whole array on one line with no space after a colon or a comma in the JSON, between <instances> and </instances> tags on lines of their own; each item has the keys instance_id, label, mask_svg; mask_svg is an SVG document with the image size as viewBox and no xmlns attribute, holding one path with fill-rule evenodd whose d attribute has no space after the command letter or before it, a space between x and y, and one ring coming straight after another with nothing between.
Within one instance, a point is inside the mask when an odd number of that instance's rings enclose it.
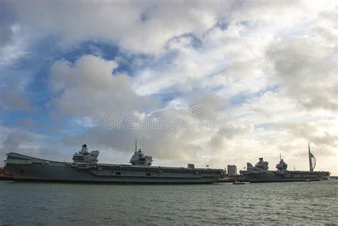
<instances>
[{"instance_id":1,"label":"thin pale-blue sky streak among white clouds, above the distant carrier","mask_svg":"<svg viewBox=\"0 0 338 226\"><path fill-rule=\"evenodd\" d=\"M263 96L267 92L278 92L280 91L280 87L277 85L267 86L265 88L262 88L260 91L255 93L238 93L235 96L231 96L229 101L232 104L232 106L241 106L243 103L250 103L252 101L255 101L259 99L261 96Z\"/></svg>"}]
</instances>

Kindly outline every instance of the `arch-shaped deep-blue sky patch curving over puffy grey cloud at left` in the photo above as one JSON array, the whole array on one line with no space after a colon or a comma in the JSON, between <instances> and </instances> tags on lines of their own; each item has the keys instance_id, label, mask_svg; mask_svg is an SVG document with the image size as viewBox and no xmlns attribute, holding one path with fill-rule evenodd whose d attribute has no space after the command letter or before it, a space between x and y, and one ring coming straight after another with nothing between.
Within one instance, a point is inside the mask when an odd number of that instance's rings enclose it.
<instances>
[{"instance_id":1,"label":"arch-shaped deep-blue sky patch curving over puffy grey cloud at left","mask_svg":"<svg viewBox=\"0 0 338 226\"><path fill-rule=\"evenodd\" d=\"M34 73L34 79L28 89L31 93L34 93L31 102L39 106L43 105L43 103L48 103L53 97L53 94L48 89L48 73L53 63L58 60L63 59L74 63L81 56L89 54L100 56L106 60L113 60L116 56L122 56L123 61L118 62L119 65L115 72L128 73L128 75L133 73L130 63L133 61L134 56L121 53L120 49L115 45L85 41L65 51L50 47L54 41L54 38L47 38L47 40L41 41L34 48L34 57L31 57L31 60L26 64L21 64L21 68ZM36 64L39 67L36 67Z\"/></svg>"}]
</instances>

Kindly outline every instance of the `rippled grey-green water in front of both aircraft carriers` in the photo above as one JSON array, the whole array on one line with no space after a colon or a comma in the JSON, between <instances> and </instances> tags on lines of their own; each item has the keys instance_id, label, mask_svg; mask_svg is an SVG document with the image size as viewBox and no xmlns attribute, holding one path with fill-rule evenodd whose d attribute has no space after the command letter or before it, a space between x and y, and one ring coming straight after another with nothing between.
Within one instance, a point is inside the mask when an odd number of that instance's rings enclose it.
<instances>
[{"instance_id":1,"label":"rippled grey-green water in front of both aircraft carriers","mask_svg":"<svg viewBox=\"0 0 338 226\"><path fill-rule=\"evenodd\" d=\"M338 180L232 185L0 182L0 225L338 225Z\"/></svg>"}]
</instances>

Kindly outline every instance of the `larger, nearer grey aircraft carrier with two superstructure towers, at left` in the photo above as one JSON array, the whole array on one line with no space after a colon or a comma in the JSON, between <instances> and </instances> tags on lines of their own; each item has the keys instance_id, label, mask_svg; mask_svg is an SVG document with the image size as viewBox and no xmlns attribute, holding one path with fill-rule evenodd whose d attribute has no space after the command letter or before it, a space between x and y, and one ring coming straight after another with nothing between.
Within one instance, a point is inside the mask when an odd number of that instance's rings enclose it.
<instances>
[{"instance_id":1,"label":"larger, nearer grey aircraft carrier with two superstructure towers, at left","mask_svg":"<svg viewBox=\"0 0 338 226\"><path fill-rule=\"evenodd\" d=\"M83 145L73 155L73 163L33 158L19 153L8 153L6 168L14 180L58 181L86 183L214 183L222 178L224 170L210 168L174 168L151 166L153 158L137 150L130 165L98 163L98 150L88 152Z\"/></svg>"}]
</instances>

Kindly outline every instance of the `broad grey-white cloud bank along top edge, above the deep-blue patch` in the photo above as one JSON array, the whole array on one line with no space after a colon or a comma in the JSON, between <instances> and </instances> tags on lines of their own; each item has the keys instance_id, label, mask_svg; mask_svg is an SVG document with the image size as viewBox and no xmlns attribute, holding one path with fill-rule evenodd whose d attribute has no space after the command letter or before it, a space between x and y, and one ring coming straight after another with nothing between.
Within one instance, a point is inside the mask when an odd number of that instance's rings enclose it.
<instances>
[{"instance_id":1,"label":"broad grey-white cloud bank along top edge, above the deep-blue patch","mask_svg":"<svg viewBox=\"0 0 338 226\"><path fill-rule=\"evenodd\" d=\"M208 29L215 23L217 9L203 2L186 4L180 1L170 4L60 1L53 6L41 2L33 6L25 1L5 1L3 4L12 9L15 20L30 29L34 36L57 35L65 45L90 37L142 53L158 53L173 36ZM228 8L227 3L219 5L223 10Z\"/></svg>"}]
</instances>

